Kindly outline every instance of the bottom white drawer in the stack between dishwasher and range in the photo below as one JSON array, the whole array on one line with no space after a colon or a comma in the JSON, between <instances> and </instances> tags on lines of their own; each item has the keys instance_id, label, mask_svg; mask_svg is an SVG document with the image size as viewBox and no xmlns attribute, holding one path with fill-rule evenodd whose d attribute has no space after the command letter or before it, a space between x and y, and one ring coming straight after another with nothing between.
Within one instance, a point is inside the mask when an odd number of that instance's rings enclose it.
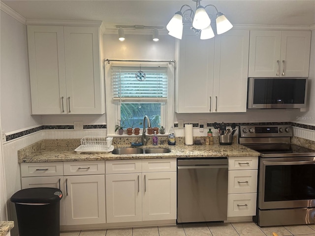
<instances>
[{"instance_id":1,"label":"bottom white drawer in the stack between dishwasher and range","mask_svg":"<svg viewBox=\"0 0 315 236\"><path fill-rule=\"evenodd\" d=\"M256 214L256 193L228 194L227 217Z\"/></svg>"}]
</instances>

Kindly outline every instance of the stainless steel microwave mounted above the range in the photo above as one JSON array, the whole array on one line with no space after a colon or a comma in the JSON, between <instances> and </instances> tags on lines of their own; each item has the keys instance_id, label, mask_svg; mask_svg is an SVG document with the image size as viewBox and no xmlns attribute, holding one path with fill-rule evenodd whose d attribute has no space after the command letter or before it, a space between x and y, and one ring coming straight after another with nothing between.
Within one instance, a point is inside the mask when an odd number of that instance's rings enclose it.
<instances>
[{"instance_id":1,"label":"stainless steel microwave mounted above the range","mask_svg":"<svg viewBox=\"0 0 315 236\"><path fill-rule=\"evenodd\" d=\"M307 78L249 78L248 109L306 108Z\"/></svg>"}]
</instances>

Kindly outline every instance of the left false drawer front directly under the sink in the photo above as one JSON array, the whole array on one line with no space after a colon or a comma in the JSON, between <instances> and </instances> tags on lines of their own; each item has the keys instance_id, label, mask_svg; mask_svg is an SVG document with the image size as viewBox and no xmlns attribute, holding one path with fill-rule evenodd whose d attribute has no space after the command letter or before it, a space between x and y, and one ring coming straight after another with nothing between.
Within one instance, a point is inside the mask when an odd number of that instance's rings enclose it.
<instances>
[{"instance_id":1,"label":"left false drawer front directly under the sink","mask_svg":"<svg viewBox=\"0 0 315 236\"><path fill-rule=\"evenodd\" d=\"M127 174L141 172L141 160L106 161L106 174Z\"/></svg>"}]
</instances>

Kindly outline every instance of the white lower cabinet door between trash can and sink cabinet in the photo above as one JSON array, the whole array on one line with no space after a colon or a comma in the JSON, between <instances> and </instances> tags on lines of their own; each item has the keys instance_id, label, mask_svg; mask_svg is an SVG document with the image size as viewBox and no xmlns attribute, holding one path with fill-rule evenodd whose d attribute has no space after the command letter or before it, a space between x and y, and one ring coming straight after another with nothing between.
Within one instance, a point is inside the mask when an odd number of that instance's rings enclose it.
<instances>
[{"instance_id":1,"label":"white lower cabinet door between trash can and sink cabinet","mask_svg":"<svg viewBox=\"0 0 315 236\"><path fill-rule=\"evenodd\" d=\"M104 175L67 176L64 182L66 225L106 222Z\"/></svg>"}]
</instances>

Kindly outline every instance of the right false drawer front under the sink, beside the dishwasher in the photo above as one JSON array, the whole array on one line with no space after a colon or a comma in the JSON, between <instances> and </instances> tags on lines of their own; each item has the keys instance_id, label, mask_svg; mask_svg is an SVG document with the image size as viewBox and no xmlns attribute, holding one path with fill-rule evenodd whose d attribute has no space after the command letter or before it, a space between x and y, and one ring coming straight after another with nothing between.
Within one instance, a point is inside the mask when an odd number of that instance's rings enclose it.
<instances>
[{"instance_id":1,"label":"right false drawer front under the sink, beside the dishwasher","mask_svg":"<svg viewBox=\"0 0 315 236\"><path fill-rule=\"evenodd\" d=\"M176 171L176 159L145 159L142 160L142 172Z\"/></svg>"}]
</instances>

